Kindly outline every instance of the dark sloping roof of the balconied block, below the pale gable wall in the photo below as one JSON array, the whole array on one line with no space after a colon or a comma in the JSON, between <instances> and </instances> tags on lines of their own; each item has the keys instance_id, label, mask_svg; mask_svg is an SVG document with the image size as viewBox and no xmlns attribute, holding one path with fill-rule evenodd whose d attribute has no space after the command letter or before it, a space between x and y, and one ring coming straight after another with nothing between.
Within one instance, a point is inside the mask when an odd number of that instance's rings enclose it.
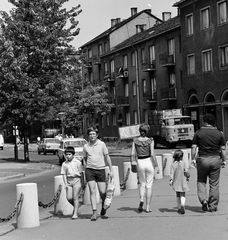
<instances>
[{"instance_id":1,"label":"dark sloping roof of the balconied block, below the pale gable wall","mask_svg":"<svg viewBox=\"0 0 228 240\"><path fill-rule=\"evenodd\" d=\"M180 27L180 17L176 16L174 18L170 18L169 20L167 20L163 23L156 24L155 26L147 29L146 31L138 33L138 34L132 36L131 38L128 38L124 42L118 44L112 51L107 53L107 55L112 52L118 51L120 49L135 45L139 42L143 42L152 37L161 35L165 32L171 31L172 29L176 29L178 27Z\"/></svg>"}]
</instances>

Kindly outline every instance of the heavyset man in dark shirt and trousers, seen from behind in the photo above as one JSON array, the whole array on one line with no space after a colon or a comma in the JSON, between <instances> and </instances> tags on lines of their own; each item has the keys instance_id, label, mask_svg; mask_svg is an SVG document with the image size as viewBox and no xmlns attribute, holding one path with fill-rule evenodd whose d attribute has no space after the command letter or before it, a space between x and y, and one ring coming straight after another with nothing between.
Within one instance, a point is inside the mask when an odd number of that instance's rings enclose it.
<instances>
[{"instance_id":1,"label":"heavyset man in dark shirt and trousers, seen from behind","mask_svg":"<svg viewBox=\"0 0 228 240\"><path fill-rule=\"evenodd\" d=\"M225 163L224 135L215 127L215 117L207 113L203 117L203 126L192 140L192 164L197 167L197 193L203 211L214 212L218 209L220 169ZM209 196L206 187L208 178Z\"/></svg>"}]
</instances>

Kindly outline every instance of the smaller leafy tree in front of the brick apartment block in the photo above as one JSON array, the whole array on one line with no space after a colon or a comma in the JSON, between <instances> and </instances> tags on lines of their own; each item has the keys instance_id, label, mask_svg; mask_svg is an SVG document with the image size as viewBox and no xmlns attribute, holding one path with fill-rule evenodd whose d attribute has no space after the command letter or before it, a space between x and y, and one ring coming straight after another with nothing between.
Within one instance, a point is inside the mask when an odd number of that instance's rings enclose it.
<instances>
[{"instance_id":1,"label":"smaller leafy tree in front of the brick apartment block","mask_svg":"<svg viewBox=\"0 0 228 240\"><path fill-rule=\"evenodd\" d=\"M105 115L111 110L113 104L109 103L105 85L93 86L89 84L79 93L78 109L81 114L89 115L89 123L94 123L93 116Z\"/></svg>"}]
</instances>

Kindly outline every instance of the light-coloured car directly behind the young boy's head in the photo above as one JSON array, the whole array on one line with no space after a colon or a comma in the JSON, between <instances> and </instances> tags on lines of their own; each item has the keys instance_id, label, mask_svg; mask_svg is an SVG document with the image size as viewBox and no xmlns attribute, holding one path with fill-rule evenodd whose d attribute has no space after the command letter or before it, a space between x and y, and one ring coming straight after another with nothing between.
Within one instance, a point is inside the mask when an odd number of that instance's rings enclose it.
<instances>
[{"instance_id":1,"label":"light-coloured car directly behind the young boy's head","mask_svg":"<svg viewBox=\"0 0 228 240\"><path fill-rule=\"evenodd\" d=\"M83 156L83 146L86 144L86 140L84 138L66 138L60 142L60 147L58 149L58 157L60 166L66 160L64 151L66 147L72 146L75 149L75 156L82 159Z\"/></svg>"}]
</instances>

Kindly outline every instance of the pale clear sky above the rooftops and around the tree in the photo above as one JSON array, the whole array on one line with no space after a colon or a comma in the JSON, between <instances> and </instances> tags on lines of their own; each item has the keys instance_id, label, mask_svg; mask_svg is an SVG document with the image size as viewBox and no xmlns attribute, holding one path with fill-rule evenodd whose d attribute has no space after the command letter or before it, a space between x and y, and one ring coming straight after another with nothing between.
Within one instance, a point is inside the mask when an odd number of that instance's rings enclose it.
<instances>
[{"instance_id":1,"label":"pale clear sky above the rooftops and around the tree","mask_svg":"<svg viewBox=\"0 0 228 240\"><path fill-rule=\"evenodd\" d=\"M0 0L0 10L9 12L13 7L8 0ZM177 8L172 7L177 0L68 0L64 7L81 5L81 14L76 18L79 21L80 33L71 44L77 49L111 27L111 19L127 19L131 16L131 8L136 7L138 12L151 9L151 13L162 19L162 12L171 12L172 17L177 15Z\"/></svg>"}]
</instances>

